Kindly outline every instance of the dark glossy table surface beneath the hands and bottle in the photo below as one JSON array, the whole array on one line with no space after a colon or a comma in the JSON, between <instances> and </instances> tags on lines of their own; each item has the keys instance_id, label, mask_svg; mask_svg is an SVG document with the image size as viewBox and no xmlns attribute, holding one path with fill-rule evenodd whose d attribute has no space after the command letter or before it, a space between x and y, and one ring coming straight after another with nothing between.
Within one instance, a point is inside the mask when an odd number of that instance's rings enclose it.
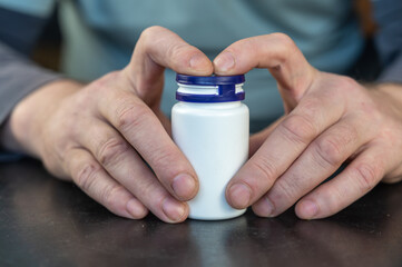
<instances>
[{"instance_id":1,"label":"dark glossy table surface beneath the hands and bottle","mask_svg":"<svg viewBox=\"0 0 402 267\"><path fill-rule=\"evenodd\" d=\"M401 205L380 185L322 220L136 221L21 160L0 165L0 266L402 266Z\"/></svg>"}]
</instances>

